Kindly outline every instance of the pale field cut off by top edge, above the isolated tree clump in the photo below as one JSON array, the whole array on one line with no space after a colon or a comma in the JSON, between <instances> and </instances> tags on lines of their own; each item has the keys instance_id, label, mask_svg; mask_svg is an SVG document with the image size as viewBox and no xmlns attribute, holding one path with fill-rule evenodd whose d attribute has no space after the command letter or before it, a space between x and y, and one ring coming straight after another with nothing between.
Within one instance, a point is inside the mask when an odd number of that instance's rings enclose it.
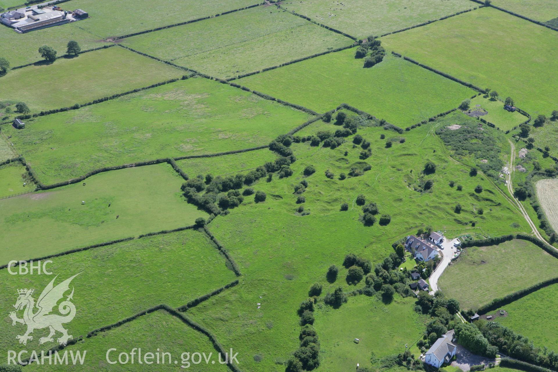
<instances>
[{"instance_id":1,"label":"pale field cut off by top edge, above the isolated tree clump","mask_svg":"<svg viewBox=\"0 0 558 372\"><path fill-rule=\"evenodd\" d=\"M304 0L282 2L282 6L289 12L294 9L312 21L364 38L415 26L476 5L465 0Z\"/></svg>"}]
</instances>

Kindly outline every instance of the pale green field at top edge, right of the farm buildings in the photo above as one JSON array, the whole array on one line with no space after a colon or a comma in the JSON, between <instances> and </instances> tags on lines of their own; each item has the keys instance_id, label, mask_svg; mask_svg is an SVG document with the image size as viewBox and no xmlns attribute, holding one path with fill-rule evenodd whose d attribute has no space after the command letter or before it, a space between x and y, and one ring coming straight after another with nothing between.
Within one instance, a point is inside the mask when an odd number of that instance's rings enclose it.
<instances>
[{"instance_id":1,"label":"pale green field at top edge, right of the farm buildings","mask_svg":"<svg viewBox=\"0 0 558 372\"><path fill-rule=\"evenodd\" d=\"M257 4L257 0L227 0L205 2L193 0L175 3L165 0L124 0L118 3L96 0L73 0L62 8L83 9L89 18L80 21L79 27L100 38L128 35L152 28L214 16L222 12Z\"/></svg>"}]
</instances>

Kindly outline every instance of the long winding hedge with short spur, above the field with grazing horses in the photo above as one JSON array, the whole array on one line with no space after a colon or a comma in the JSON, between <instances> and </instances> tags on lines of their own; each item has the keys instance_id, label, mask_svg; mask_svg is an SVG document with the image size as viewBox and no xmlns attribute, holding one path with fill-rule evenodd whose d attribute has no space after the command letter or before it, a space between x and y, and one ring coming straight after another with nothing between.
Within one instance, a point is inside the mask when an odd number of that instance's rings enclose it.
<instances>
[{"instance_id":1,"label":"long winding hedge with short spur, above the field with grazing horses","mask_svg":"<svg viewBox=\"0 0 558 372\"><path fill-rule=\"evenodd\" d=\"M125 169L125 168L134 168L134 167L143 167L143 166L149 166L149 165L157 165L157 164L161 164L161 163L169 163L172 166L172 168L177 173L179 173L179 175L182 176L182 178L184 178L184 180L188 180L188 178L189 178L188 175L184 171L182 171L181 168L178 167L178 165L176 164L177 160L211 158L211 157L237 154L237 153L243 153L243 152L249 152L249 151L256 151L256 150L264 149L264 148L268 148L268 147L269 147L269 145L266 144L266 145L262 145L262 146L242 148L242 149L238 149L238 150L231 150L231 151L224 151L224 152L217 152L217 153L213 153L213 154L186 155L186 156L179 156L179 157L175 157L175 158L159 158L159 159L156 159L156 160L147 160L147 161L141 161L141 162L136 162L136 163L128 163L128 164L117 165L117 166L103 167L103 168L98 168L98 169L93 170L93 171L89 171L89 172L85 173L85 175L83 175L83 176L79 176L79 177L76 177L76 178L71 178L70 180L66 180L66 181L60 181L60 182L52 183L51 185L45 185L44 183L42 183L39 180L39 177L37 177L35 171L31 168L31 166L27 163L27 161L23 157L22 157L22 160L23 160L22 163L23 163L23 166L25 166L27 168L27 171L30 173L33 182L35 182L36 185L37 185L37 189L35 191L43 191L43 190L56 189L57 187L62 187L62 186L73 185L74 183L84 181L91 176L98 175L99 173L104 173L104 172L109 172L109 171L118 171L118 170L122 170L122 169Z\"/></svg>"}]
</instances>

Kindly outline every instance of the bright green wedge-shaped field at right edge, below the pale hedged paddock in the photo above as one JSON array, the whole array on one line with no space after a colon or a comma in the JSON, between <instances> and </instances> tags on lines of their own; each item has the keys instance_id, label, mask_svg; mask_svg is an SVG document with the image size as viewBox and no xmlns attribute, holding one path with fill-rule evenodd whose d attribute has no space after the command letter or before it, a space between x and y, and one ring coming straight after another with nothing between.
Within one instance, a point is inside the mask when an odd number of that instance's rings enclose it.
<instances>
[{"instance_id":1,"label":"bright green wedge-shaped field at right edge, below the pale hedged paddock","mask_svg":"<svg viewBox=\"0 0 558 372\"><path fill-rule=\"evenodd\" d=\"M503 306L508 315L494 321L528 337L535 346L558 350L558 284L539 289Z\"/></svg>"}]
</instances>

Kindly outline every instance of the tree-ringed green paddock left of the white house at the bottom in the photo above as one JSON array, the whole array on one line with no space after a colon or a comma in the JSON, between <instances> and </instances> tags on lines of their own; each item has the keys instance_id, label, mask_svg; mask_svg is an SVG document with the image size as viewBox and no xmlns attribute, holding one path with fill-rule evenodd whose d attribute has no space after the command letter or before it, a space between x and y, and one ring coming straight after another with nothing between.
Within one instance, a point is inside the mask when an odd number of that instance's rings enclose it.
<instances>
[{"instance_id":1,"label":"tree-ringed green paddock left of the white house at the bottom","mask_svg":"<svg viewBox=\"0 0 558 372\"><path fill-rule=\"evenodd\" d=\"M320 370L341 372L357 363L372 368L372 352L382 358L405 351L405 344L415 344L425 328L425 317L413 311L415 301L396 294L386 305L376 296L361 295L349 297L338 309L321 306L314 313Z\"/></svg>"}]
</instances>

